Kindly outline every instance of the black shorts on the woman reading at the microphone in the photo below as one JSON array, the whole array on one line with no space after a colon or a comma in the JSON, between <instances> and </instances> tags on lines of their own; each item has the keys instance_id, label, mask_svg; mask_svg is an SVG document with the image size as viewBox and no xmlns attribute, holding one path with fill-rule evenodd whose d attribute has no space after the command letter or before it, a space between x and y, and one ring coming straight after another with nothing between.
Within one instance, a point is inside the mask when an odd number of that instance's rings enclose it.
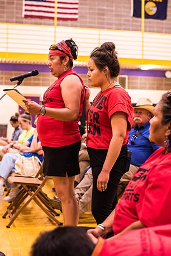
<instances>
[{"instance_id":1,"label":"black shorts on the woman reading at the microphone","mask_svg":"<svg viewBox=\"0 0 171 256\"><path fill-rule=\"evenodd\" d=\"M67 173L68 177L72 177L80 173L78 160L80 141L59 148L42 146L42 149L45 153L43 173L46 176L65 177Z\"/></svg>"}]
</instances>

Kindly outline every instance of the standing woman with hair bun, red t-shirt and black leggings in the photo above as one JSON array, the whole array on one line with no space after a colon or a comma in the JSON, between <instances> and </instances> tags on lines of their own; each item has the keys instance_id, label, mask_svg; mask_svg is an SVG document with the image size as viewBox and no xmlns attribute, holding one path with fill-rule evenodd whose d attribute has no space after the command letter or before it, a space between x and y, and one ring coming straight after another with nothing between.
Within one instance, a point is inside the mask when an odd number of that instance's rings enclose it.
<instances>
[{"instance_id":1,"label":"standing woman with hair bun, red t-shirt and black leggings","mask_svg":"<svg viewBox=\"0 0 171 256\"><path fill-rule=\"evenodd\" d=\"M87 150L93 173L92 214L97 224L115 208L118 183L127 171L127 140L134 110L129 94L116 82L119 73L113 42L92 51L87 76L91 86L101 91L91 105L86 93L85 105Z\"/></svg>"}]
</instances>

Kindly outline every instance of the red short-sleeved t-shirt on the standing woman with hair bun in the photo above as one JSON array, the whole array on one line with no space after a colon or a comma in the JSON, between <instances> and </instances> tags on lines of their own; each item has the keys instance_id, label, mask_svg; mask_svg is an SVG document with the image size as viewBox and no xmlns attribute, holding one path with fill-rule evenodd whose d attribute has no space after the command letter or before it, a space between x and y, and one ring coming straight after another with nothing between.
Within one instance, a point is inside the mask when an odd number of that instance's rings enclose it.
<instances>
[{"instance_id":1,"label":"red short-sleeved t-shirt on the standing woman with hair bun","mask_svg":"<svg viewBox=\"0 0 171 256\"><path fill-rule=\"evenodd\" d=\"M127 114L127 132L123 145L127 143L128 132L132 126L133 107L131 98L124 88L120 86L99 92L94 98L87 113L87 146L93 149L108 149L112 138L110 118L115 112Z\"/></svg>"}]
</instances>

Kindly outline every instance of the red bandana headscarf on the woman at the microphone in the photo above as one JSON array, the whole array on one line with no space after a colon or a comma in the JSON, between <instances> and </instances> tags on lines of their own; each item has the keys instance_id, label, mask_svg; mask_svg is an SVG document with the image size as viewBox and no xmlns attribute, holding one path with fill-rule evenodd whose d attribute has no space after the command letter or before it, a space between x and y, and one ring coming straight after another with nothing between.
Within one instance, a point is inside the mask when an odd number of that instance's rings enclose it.
<instances>
[{"instance_id":1,"label":"red bandana headscarf on the woman at the microphone","mask_svg":"<svg viewBox=\"0 0 171 256\"><path fill-rule=\"evenodd\" d=\"M63 57L68 56L71 60L73 60L73 56L70 51L70 48L64 40L61 42L58 42L58 44L56 45L51 45L49 55L63 56Z\"/></svg>"}]
</instances>

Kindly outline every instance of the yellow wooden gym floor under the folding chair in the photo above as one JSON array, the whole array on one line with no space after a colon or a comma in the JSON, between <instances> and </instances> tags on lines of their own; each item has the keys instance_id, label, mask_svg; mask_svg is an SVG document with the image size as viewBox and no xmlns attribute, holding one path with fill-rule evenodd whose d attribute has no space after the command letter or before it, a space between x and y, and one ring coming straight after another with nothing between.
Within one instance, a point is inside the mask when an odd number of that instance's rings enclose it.
<instances>
[{"instance_id":1,"label":"yellow wooden gym floor under the folding chair","mask_svg":"<svg viewBox=\"0 0 171 256\"><path fill-rule=\"evenodd\" d=\"M53 181L48 179L43 190L48 194L50 198L53 198L55 192L52 190ZM56 227L48 219L48 216L36 205L34 201L21 212L15 222L11 225L10 229L6 227L10 221L7 216L6 219L2 219L6 208L9 205L8 202L1 200L0 205L0 251L6 256L28 256L30 255L30 248L37 236L46 230L51 230ZM59 211L60 216L56 218L63 222L63 215ZM86 212L80 216L79 226L96 226L96 222L93 219L91 212Z\"/></svg>"}]
</instances>

